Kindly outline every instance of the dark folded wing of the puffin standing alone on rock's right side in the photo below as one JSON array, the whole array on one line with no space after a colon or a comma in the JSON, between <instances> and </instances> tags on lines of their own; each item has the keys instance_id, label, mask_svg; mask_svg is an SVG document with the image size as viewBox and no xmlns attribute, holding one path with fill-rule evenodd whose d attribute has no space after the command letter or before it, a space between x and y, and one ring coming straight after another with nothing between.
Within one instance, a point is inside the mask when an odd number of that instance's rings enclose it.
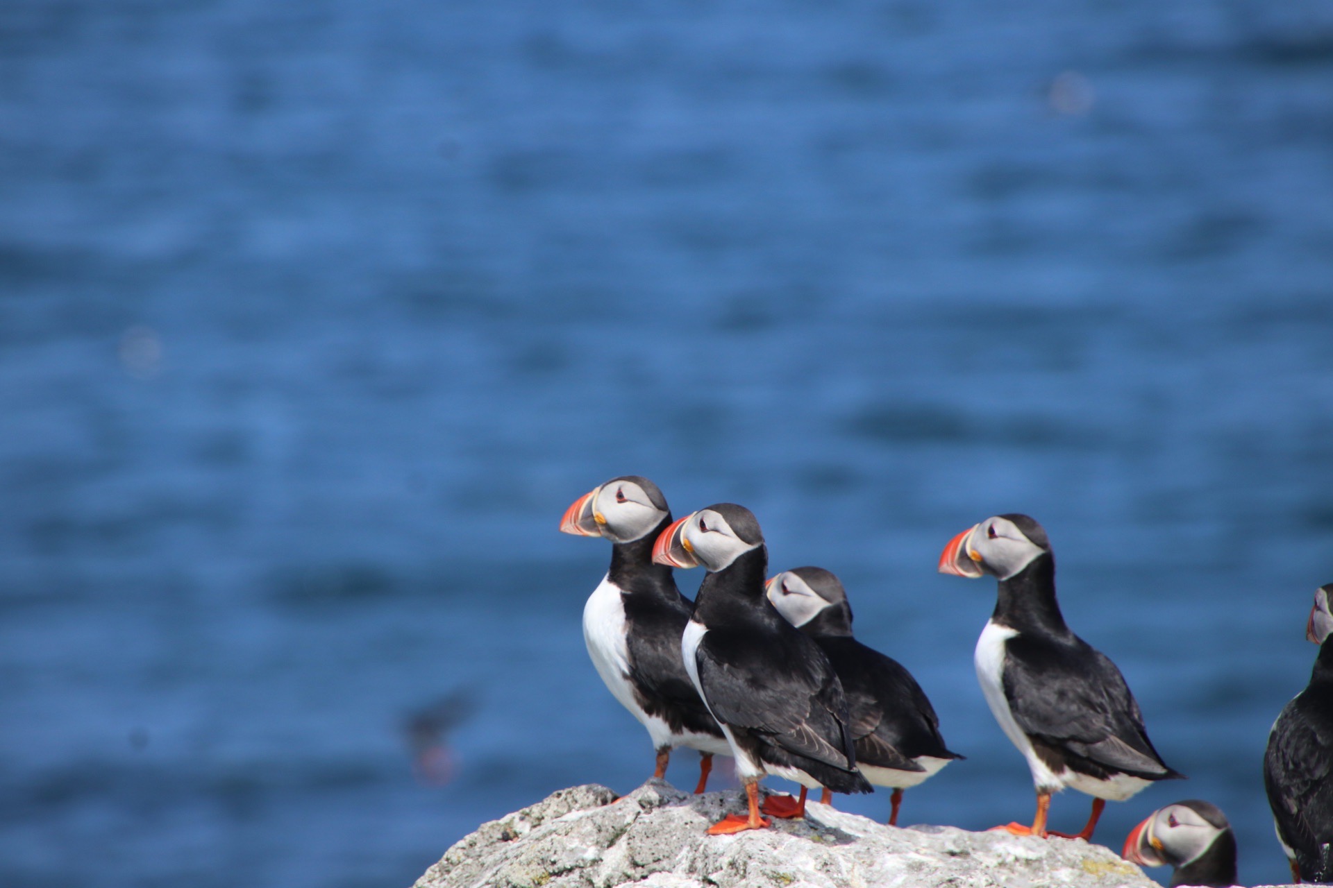
<instances>
[{"instance_id":1,"label":"dark folded wing of the puffin standing alone on rock's right side","mask_svg":"<svg viewBox=\"0 0 1333 888\"><path fill-rule=\"evenodd\" d=\"M1161 760L1116 664L1080 638L1016 635L1005 644L1004 690L1014 722L1066 754L1070 767L1146 780L1177 775ZM1077 758L1069 758L1072 754Z\"/></svg>"}]
</instances>

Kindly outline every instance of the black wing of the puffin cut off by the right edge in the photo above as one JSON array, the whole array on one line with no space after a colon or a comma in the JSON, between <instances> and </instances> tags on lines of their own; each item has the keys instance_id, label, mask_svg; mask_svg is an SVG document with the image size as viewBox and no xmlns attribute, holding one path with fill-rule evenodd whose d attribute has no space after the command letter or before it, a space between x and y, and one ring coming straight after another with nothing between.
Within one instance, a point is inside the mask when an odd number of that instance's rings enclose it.
<instances>
[{"instance_id":1,"label":"black wing of the puffin cut off by the right edge","mask_svg":"<svg viewBox=\"0 0 1333 888\"><path fill-rule=\"evenodd\" d=\"M1264 754L1264 788L1277 831L1296 851L1301 875L1325 880L1321 845L1333 841L1333 711L1301 694L1273 724Z\"/></svg>"}]
</instances>

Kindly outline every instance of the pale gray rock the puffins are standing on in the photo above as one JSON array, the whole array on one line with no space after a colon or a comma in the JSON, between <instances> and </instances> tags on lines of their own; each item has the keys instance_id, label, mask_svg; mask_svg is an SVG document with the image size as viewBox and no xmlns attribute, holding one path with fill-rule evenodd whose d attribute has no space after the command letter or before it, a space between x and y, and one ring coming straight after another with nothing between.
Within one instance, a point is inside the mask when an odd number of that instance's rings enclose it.
<instances>
[{"instance_id":1,"label":"pale gray rock the puffins are standing on","mask_svg":"<svg viewBox=\"0 0 1333 888\"><path fill-rule=\"evenodd\" d=\"M483 824L416 888L1158 888L1101 845L953 827L886 827L810 803L805 820L709 836L738 791L692 796L649 780L616 800L561 789Z\"/></svg>"}]
</instances>

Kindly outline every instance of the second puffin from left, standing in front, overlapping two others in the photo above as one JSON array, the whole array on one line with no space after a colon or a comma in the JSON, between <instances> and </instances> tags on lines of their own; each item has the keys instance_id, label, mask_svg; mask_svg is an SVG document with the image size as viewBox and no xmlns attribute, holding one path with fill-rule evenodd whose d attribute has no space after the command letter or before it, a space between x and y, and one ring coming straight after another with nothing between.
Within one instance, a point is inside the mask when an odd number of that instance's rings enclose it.
<instances>
[{"instance_id":1,"label":"second puffin from left, standing in front, overlapping two others","mask_svg":"<svg viewBox=\"0 0 1333 888\"><path fill-rule=\"evenodd\" d=\"M842 683L808 635L782 619L764 591L768 547L744 506L717 503L676 521L657 537L653 560L702 566L708 575L680 640L685 670L717 719L745 787L748 816L729 815L709 835L762 829L758 781L765 774L801 784L765 800L764 813L800 817L812 787L870 792L856 770L856 744Z\"/></svg>"}]
</instances>

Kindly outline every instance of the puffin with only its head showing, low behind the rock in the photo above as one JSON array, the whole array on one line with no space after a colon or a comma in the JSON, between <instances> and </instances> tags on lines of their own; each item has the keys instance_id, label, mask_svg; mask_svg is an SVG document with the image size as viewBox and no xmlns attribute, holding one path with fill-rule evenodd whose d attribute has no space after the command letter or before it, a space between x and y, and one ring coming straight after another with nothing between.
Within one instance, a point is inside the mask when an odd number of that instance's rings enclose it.
<instances>
[{"instance_id":1,"label":"puffin with only its head showing, low behind the rock","mask_svg":"<svg viewBox=\"0 0 1333 888\"><path fill-rule=\"evenodd\" d=\"M1188 799L1153 811L1125 839L1120 856L1140 867L1173 867L1170 888L1236 884L1236 833L1212 801Z\"/></svg>"}]
</instances>

